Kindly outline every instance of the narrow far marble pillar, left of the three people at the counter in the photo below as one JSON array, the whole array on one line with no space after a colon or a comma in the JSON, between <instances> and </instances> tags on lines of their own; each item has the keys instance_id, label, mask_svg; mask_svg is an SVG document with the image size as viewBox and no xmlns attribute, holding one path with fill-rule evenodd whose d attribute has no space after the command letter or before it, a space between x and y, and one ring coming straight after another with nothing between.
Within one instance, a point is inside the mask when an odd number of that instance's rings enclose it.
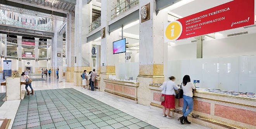
<instances>
[{"instance_id":1,"label":"narrow far marble pillar, left of the three people at the counter","mask_svg":"<svg viewBox=\"0 0 256 129\"><path fill-rule=\"evenodd\" d=\"M74 13L67 13L66 22L66 82L74 82Z\"/></svg>"}]
</instances>

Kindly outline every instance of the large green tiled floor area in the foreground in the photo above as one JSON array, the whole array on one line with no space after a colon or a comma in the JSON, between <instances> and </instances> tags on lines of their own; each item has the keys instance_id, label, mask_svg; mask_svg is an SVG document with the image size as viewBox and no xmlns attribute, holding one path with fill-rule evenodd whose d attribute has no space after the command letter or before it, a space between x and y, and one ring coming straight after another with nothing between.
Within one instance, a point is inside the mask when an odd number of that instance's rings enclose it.
<instances>
[{"instance_id":1,"label":"large green tiled floor area in the foreground","mask_svg":"<svg viewBox=\"0 0 256 129\"><path fill-rule=\"evenodd\" d=\"M73 88L21 100L12 129L157 129Z\"/></svg>"}]
</instances>

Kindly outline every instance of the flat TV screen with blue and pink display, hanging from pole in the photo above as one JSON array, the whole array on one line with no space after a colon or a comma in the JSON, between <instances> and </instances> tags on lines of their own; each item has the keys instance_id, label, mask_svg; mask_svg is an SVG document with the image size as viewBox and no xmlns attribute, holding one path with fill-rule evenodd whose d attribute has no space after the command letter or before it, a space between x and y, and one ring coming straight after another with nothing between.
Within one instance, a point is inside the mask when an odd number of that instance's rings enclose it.
<instances>
[{"instance_id":1,"label":"flat TV screen with blue and pink display, hanging from pole","mask_svg":"<svg viewBox=\"0 0 256 129\"><path fill-rule=\"evenodd\" d=\"M125 39L113 42L113 54L126 52Z\"/></svg>"}]
</instances>

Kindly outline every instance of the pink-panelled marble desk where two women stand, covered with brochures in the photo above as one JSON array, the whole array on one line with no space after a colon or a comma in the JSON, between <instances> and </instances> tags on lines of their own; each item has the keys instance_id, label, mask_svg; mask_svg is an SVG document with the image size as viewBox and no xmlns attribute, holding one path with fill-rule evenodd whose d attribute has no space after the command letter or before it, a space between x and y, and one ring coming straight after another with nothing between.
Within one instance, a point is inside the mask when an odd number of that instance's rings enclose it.
<instances>
[{"instance_id":1,"label":"pink-panelled marble desk where two women stand, covered with brochures","mask_svg":"<svg viewBox=\"0 0 256 129\"><path fill-rule=\"evenodd\" d=\"M153 100L150 105L160 104L161 85L149 85ZM256 98L208 92L194 92L194 109L190 121L211 128L256 129ZM181 116L183 99L175 99L175 116ZM193 119L194 118L194 119ZM217 125L217 126L216 126Z\"/></svg>"}]
</instances>

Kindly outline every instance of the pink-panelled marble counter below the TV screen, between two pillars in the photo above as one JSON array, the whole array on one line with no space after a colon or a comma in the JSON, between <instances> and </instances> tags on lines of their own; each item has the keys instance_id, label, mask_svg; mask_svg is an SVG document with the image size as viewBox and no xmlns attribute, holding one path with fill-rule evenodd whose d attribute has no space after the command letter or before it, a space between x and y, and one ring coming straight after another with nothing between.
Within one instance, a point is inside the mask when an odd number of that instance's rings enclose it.
<instances>
[{"instance_id":1,"label":"pink-panelled marble counter below the TV screen, between two pillars","mask_svg":"<svg viewBox=\"0 0 256 129\"><path fill-rule=\"evenodd\" d=\"M105 92L117 95L121 99L138 103L138 82L135 80L103 79L106 83Z\"/></svg>"}]
</instances>

